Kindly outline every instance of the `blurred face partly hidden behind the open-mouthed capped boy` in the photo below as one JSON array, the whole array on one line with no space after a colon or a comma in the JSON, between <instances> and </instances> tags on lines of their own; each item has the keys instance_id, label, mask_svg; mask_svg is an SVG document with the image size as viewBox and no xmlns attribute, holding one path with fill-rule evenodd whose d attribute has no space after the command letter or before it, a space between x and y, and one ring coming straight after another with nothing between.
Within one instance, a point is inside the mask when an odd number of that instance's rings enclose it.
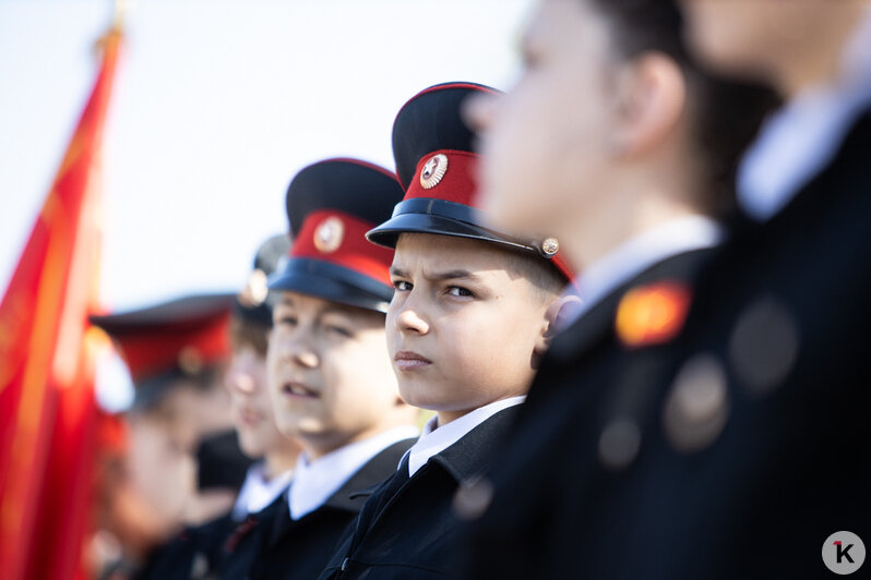
<instances>
[{"instance_id":1,"label":"blurred face partly hidden behind the open-mouthed capped boy","mask_svg":"<svg viewBox=\"0 0 871 580\"><path fill-rule=\"evenodd\" d=\"M263 457L290 469L299 444L278 431L266 382L266 347L270 328L242 316L230 322L232 354L226 382L230 413L239 446L252 458ZM282 460L284 458L284 460Z\"/></svg>"}]
</instances>

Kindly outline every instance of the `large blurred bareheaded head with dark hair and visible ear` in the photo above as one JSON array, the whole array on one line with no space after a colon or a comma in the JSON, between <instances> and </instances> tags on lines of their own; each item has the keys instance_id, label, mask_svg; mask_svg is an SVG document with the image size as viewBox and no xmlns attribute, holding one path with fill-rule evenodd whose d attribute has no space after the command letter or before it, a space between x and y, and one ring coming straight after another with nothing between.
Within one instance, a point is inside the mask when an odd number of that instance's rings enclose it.
<instances>
[{"instance_id":1,"label":"large blurred bareheaded head with dark hair and visible ear","mask_svg":"<svg viewBox=\"0 0 871 580\"><path fill-rule=\"evenodd\" d=\"M762 101L692 67L672 3L541 0L523 53L505 96L468 107L497 226L608 245L675 214L724 209ZM652 206L644 196L657 188ZM578 256L577 245L578 268L605 250Z\"/></svg>"}]
</instances>

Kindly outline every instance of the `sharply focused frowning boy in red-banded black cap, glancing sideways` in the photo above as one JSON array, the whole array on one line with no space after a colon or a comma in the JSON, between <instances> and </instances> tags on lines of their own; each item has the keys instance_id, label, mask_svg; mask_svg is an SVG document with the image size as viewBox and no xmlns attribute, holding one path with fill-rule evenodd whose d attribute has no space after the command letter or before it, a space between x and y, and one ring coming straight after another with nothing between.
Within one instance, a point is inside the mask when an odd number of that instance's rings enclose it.
<instances>
[{"instance_id":1,"label":"sharply focused frowning boy in red-banded black cap, glancing sideways","mask_svg":"<svg viewBox=\"0 0 871 580\"><path fill-rule=\"evenodd\" d=\"M442 578L455 572L464 490L523 402L568 283L558 241L484 225L472 203L477 155L461 104L491 89L428 88L393 126L406 189L370 241L395 247L387 343L410 404L437 412L391 479L374 490L321 578Z\"/></svg>"}]
</instances>

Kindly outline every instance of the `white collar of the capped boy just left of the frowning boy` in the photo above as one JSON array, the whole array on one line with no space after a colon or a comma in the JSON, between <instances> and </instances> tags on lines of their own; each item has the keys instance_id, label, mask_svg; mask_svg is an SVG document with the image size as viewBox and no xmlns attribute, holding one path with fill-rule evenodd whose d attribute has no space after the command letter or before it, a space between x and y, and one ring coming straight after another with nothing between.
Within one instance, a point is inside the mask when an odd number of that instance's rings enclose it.
<instances>
[{"instance_id":1,"label":"white collar of the capped boy just left of the frowning boy","mask_svg":"<svg viewBox=\"0 0 871 580\"><path fill-rule=\"evenodd\" d=\"M290 518L298 520L326 503L360 468L378 454L403 439L417 437L416 427L406 425L379 433L309 461L302 451L287 491Z\"/></svg>"}]
</instances>

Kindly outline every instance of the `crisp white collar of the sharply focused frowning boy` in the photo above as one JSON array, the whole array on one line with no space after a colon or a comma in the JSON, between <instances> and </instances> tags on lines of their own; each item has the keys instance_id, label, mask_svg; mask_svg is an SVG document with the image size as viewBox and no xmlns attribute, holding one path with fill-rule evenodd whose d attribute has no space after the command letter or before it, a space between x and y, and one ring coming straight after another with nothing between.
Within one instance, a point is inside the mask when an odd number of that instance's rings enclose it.
<instances>
[{"instance_id":1,"label":"crisp white collar of the sharply focused frowning boy","mask_svg":"<svg viewBox=\"0 0 871 580\"><path fill-rule=\"evenodd\" d=\"M496 413L509 407L521 404L526 400L526 396L510 397L501 399L484 407L479 407L466 413L458 419L454 419L446 425L439 426L439 415L433 416L423 426L423 433L417 439L410 449L408 449L399 461L402 467L403 461L408 457L408 476L417 473L417 470L427 464L427 461L438 455L453 444L462 439L469 431L477 427Z\"/></svg>"}]
</instances>

